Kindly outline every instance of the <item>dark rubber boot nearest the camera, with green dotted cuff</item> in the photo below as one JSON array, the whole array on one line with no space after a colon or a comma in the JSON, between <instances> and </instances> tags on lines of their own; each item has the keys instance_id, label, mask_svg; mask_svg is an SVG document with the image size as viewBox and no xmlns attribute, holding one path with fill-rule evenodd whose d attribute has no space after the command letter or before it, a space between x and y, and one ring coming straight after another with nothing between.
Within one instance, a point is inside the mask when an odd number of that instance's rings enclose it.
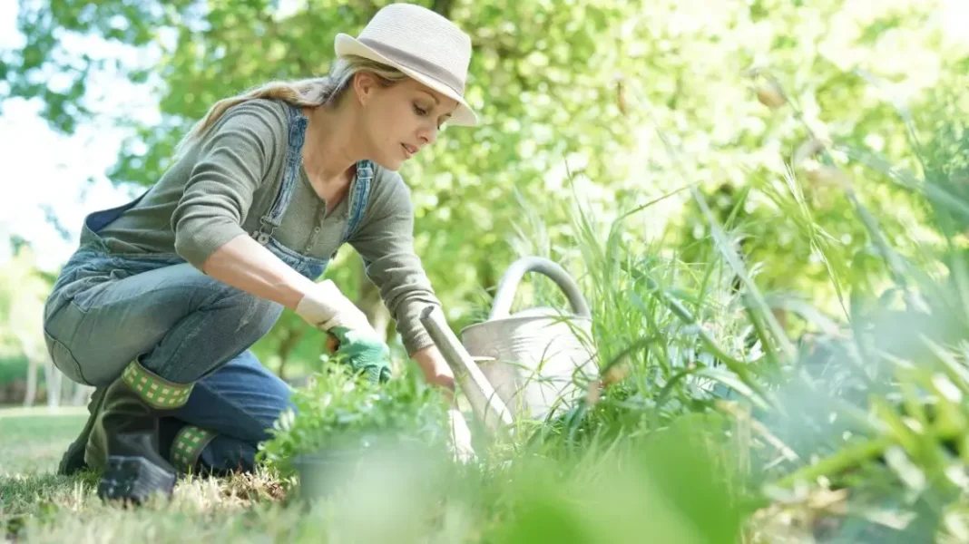
<instances>
[{"instance_id":1,"label":"dark rubber boot nearest the camera, with green dotted cuff","mask_svg":"<svg viewBox=\"0 0 969 544\"><path fill-rule=\"evenodd\" d=\"M105 391L84 452L90 468L104 468L98 497L141 504L172 496L176 470L159 452L158 419L188 401L192 384L173 383L136 360Z\"/></svg>"}]
</instances>

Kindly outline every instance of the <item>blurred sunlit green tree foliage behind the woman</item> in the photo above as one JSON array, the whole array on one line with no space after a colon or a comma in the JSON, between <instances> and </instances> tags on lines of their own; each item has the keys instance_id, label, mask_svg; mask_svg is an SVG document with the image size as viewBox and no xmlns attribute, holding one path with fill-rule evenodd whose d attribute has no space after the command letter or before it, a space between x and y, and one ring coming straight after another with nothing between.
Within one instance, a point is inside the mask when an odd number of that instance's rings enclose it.
<instances>
[{"instance_id":1,"label":"blurred sunlit green tree foliage behind the woman","mask_svg":"<svg viewBox=\"0 0 969 544\"><path fill-rule=\"evenodd\" d=\"M141 84L157 97L161 117L143 123L117 112L132 136L109 177L150 185L213 102L266 79L325 74L336 33L356 35L387 3L21 2L27 42L0 57L0 78L8 96L42 100L47 120L65 132L89 117L85 101L99 71ZM580 271L568 249L567 204L575 196L608 224L629 205L689 184L742 196L725 205L740 203L735 225L763 287L816 293L838 312L828 267L870 273L869 241L836 188L800 170L786 176L783 159L810 128L916 166L896 103L918 118L933 104L924 91L943 82L964 88L958 78L969 66L965 42L946 38L932 18L937 1L419 3L471 35L467 98L483 121L447 130L402 171L414 188L418 251L455 326L480 317L486 291L520 251L542 251ZM146 60L72 54L78 35L145 51ZM52 73L72 76L54 82L45 77ZM787 100L765 98L772 81ZM870 172L849 171L903 249L936 242L918 227L919 202ZM797 215L805 202L817 226L811 235ZM688 250L703 236L686 192L635 221L644 241L664 236ZM342 252L328 275L372 319L387 322L357 260ZM320 339L302 326L287 314L257 351L275 367L312 359Z\"/></svg>"}]
</instances>

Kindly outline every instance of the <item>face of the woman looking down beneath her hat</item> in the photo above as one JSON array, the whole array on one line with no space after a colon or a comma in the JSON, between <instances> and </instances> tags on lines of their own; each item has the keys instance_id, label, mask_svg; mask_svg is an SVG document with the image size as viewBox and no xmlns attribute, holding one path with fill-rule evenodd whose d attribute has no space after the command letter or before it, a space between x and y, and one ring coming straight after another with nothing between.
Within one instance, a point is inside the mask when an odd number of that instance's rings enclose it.
<instances>
[{"instance_id":1,"label":"face of the woman looking down beneath her hat","mask_svg":"<svg viewBox=\"0 0 969 544\"><path fill-rule=\"evenodd\" d=\"M457 101L411 78L381 87L373 76L360 74L354 86L369 158L391 170L434 143L457 107Z\"/></svg>"}]
</instances>

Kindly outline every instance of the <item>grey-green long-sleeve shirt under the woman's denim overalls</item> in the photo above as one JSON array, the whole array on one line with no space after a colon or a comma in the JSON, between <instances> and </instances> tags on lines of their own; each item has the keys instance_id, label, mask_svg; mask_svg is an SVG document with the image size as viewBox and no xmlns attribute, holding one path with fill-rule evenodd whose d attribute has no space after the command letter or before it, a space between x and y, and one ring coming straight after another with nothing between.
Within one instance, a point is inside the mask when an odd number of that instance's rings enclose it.
<instances>
[{"instance_id":1,"label":"grey-green long-sleeve shirt under the woman's denim overalls","mask_svg":"<svg viewBox=\"0 0 969 544\"><path fill-rule=\"evenodd\" d=\"M165 172L139 204L99 232L112 253L176 253L201 269L239 234L259 228L279 190L289 146L288 106L234 106ZM302 166L293 198L273 232L300 255L328 258L349 220L349 196L332 210ZM440 305L414 251L414 214L403 178L376 166L363 218L349 243L397 323L409 354L431 345L420 315Z\"/></svg>"}]
</instances>

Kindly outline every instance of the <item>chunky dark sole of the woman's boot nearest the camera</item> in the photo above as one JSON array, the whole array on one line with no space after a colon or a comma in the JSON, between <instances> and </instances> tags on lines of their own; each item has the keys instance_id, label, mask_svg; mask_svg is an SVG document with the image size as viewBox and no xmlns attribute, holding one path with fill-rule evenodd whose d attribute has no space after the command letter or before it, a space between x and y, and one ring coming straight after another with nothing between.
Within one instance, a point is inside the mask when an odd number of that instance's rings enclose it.
<instances>
[{"instance_id":1,"label":"chunky dark sole of the woman's boot nearest the camera","mask_svg":"<svg viewBox=\"0 0 969 544\"><path fill-rule=\"evenodd\" d=\"M143 457L111 456L98 484L98 497L142 504L155 494L162 494L166 499L172 497L174 487L172 472Z\"/></svg>"}]
</instances>

